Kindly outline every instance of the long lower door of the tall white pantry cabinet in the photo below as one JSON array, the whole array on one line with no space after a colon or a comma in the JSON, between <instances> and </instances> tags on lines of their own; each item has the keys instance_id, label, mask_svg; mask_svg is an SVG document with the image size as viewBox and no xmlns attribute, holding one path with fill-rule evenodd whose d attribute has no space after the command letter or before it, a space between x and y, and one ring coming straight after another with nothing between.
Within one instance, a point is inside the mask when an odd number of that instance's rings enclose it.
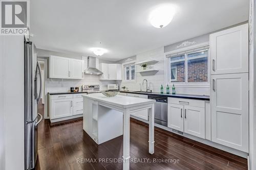
<instances>
[{"instance_id":1,"label":"long lower door of the tall white pantry cabinet","mask_svg":"<svg viewBox=\"0 0 256 170\"><path fill-rule=\"evenodd\" d=\"M211 76L211 140L248 153L248 73Z\"/></svg>"}]
</instances>

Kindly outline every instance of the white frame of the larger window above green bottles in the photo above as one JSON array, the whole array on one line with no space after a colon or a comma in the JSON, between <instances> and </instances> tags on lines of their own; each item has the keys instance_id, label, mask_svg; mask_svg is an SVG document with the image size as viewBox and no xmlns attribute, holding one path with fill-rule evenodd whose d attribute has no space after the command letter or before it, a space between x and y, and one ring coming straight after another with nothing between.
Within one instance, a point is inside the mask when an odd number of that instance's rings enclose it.
<instances>
[{"instance_id":1,"label":"white frame of the larger window above green bottles","mask_svg":"<svg viewBox=\"0 0 256 170\"><path fill-rule=\"evenodd\" d=\"M197 48L197 47L195 47L195 48ZM184 50L185 51L185 50ZM202 52L202 51L207 51L207 82L188 82L188 79L187 79L187 61L188 61L188 55L189 54L193 54L193 53L198 53L198 52ZM167 54L166 54L167 55ZM170 84L174 84L175 86L197 86L197 87L205 87L205 86L209 86L209 79L210 79L210 61L209 61L209 56L210 56L210 54L209 54L209 48L207 48L207 49L203 49L203 50L198 50L198 51L194 51L194 52L190 52L190 53L185 53L184 54L184 56L185 56L185 81L184 82L172 82L172 81L175 81L175 80L171 80L171 78L170 78L170 69L172 68L171 66L170 66L170 59L172 58L172 57L169 57L169 58L167 58L167 61L168 61L168 74L169 74L169 76L168 76L168 80L167 80L167 82L168 83L170 83ZM177 57L177 56L175 56L175 57ZM176 72L176 74L177 74L177 72ZM176 79L177 79L177 76L176 76Z\"/></svg>"}]
</instances>

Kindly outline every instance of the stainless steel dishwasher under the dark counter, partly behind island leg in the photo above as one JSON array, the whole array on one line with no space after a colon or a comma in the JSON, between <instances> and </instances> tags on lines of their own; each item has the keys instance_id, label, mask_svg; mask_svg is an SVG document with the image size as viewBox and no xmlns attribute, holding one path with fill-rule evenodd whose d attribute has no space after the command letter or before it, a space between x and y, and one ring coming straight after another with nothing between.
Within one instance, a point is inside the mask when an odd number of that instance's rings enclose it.
<instances>
[{"instance_id":1,"label":"stainless steel dishwasher under the dark counter, partly behind island leg","mask_svg":"<svg viewBox=\"0 0 256 170\"><path fill-rule=\"evenodd\" d=\"M148 95L148 99L156 100L155 123L167 127L167 97Z\"/></svg>"}]
</instances>

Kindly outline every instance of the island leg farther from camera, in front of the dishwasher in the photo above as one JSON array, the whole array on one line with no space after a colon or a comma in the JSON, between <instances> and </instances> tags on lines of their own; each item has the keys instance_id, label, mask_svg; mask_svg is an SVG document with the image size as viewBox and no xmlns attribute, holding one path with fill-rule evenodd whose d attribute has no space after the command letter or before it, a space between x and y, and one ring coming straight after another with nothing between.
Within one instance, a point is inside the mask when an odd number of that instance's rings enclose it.
<instances>
[{"instance_id":1,"label":"island leg farther from camera, in front of the dishwasher","mask_svg":"<svg viewBox=\"0 0 256 170\"><path fill-rule=\"evenodd\" d=\"M154 148L154 143L155 143L155 138L154 138L154 127L155 127L155 104L152 105L150 109L148 109L148 122L150 123L150 133L149 133L149 147L148 147L148 152L150 154L154 154L155 148Z\"/></svg>"}]
</instances>

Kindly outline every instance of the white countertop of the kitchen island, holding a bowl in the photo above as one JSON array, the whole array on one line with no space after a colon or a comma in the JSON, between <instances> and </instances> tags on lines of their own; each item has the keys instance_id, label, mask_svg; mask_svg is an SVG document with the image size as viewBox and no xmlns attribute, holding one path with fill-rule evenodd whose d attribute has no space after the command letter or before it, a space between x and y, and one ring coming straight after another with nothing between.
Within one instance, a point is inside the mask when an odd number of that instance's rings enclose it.
<instances>
[{"instance_id":1,"label":"white countertop of the kitchen island, holding a bowl","mask_svg":"<svg viewBox=\"0 0 256 170\"><path fill-rule=\"evenodd\" d=\"M96 100L98 102L111 104L111 105L115 105L117 107L122 107L122 108L135 107L143 104L151 104L156 102L155 100L152 100L152 99L134 98L134 97L124 96L124 95L107 97L102 93L84 94L82 96L85 96L86 98L89 98L91 100Z\"/></svg>"}]
</instances>

